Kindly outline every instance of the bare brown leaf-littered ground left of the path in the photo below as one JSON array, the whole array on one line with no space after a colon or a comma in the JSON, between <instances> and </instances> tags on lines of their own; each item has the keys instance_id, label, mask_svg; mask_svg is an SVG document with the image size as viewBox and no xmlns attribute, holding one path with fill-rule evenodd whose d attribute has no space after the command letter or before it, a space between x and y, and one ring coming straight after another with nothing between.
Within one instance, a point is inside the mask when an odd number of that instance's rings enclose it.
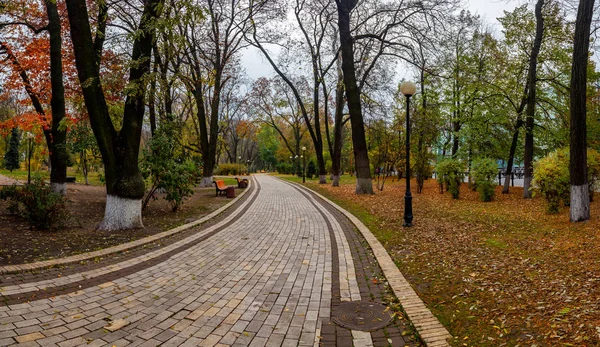
<instances>
[{"instance_id":1,"label":"bare brown leaf-littered ground left of the path","mask_svg":"<svg viewBox=\"0 0 600 347\"><path fill-rule=\"evenodd\" d=\"M194 188L194 195L179 211L172 212L159 196L143 211L145 228L107 232L96 230L104 216L104 187L69 184L67 196L69 220L66 227L55 231L30 229L26 221L10 215L7 202L0 200L0 266L62 258L134 241L202 218L231 201L215 197L214 188Z\"/></svg>"}]
</instances>

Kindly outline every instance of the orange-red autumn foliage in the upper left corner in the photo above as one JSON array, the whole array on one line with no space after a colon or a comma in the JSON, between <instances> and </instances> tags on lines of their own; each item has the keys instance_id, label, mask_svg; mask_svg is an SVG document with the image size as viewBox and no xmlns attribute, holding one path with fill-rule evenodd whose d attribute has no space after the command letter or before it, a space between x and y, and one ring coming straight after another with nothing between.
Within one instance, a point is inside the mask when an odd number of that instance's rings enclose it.
<instances>
[{"instance_id":1,"label":"orange-red autumn foliage in the upper left corner","mask_svg":"<svg viewBox=\"0 0 600 347\"><path fill-rule=\"evenodd\" d=\"M63 83L66 97L78 93L74 57L68 41L68 21L65 6L57 2L61 15ZM3 13L0 41L0 72L5 75L3 98L15 98L21 106L16 116L0 124L0 128L18 126L25 131L48 129L51 122L50 101L52 87L50 79L50 43L45 26L48 19L43 1L11 1ZM41 104L41 110L32 106L30 95L35 95Z\"/></svg>"}]
</instances>

